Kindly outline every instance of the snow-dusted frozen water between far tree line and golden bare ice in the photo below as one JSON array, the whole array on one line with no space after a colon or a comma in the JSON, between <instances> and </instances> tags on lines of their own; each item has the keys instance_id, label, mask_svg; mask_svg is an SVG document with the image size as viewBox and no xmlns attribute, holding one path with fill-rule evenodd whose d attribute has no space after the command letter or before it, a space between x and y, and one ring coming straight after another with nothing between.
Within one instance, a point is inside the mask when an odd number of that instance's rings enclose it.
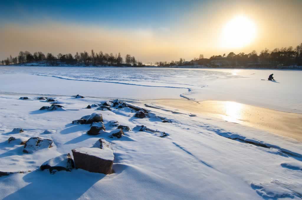
<instances>
[{"instance_id":1,"label":"snow-dusted frozen water between far tree line and golden bare ice","mask_svg":"<svg viewBox=\"0 0 302 200\"><path fill-rule=\"evenodd\" d=\"M268 81L274 73L277 81ZM0 92L220 100L302 113L301 70L0 67Z\"/></svg>"}]
</instances>

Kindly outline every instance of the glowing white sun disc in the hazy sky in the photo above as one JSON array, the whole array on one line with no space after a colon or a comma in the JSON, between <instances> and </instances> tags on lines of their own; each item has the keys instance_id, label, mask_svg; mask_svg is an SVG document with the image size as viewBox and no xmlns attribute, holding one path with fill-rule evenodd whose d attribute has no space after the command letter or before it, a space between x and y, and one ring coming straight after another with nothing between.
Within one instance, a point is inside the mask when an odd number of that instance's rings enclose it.
<instances>
[{"instance_id":1,"label":"glowing white sun disc in the hazy sky","mask_svg":"<svg viewBox=\"0 0 302 200\"><path fill-rule=\"evenodd\" d=\"M238 16L224 25L221 45L223 48L241 48L250 44L255 36L255 23L247 17Z\"/></svg>"}]
</instances>

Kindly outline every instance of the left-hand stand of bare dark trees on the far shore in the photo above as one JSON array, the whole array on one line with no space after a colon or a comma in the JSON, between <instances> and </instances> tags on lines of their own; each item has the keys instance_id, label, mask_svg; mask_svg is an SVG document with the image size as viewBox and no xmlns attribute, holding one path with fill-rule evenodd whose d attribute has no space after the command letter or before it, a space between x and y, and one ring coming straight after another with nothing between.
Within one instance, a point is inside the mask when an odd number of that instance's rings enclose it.
<instances>
[{"instance_id":1,"label":"left-hand stand of bare dark trees on the far shore","mask_svg":"<svg viewBox=\"0 0 302 200\"><path fill-rule=\"evenodd\" d=\"M16 57L12 57L10 55L9 58L2 60L2 65L9 65L9 64L24 64L24 63L32 63L32 62L39 62L39 61L45 61L47 64L50 65L59 65L60 63L66 63L66 64L74 64L74 65L127 65L127 66L142 66L142 62L137 61L134 56L131 56L130 54L127 54L125 56L125 59L118 54L113 53L103 53L95 52L93 49L91 50L91 54L88 52L76 52L76 54L73 56L72 54L62 54L59 53L57 56L53 55L52 53L47 53L46 55L43 52L34 52L34 54L31 54L28 51L20 51L19 55Z\"/></svg>"}]
</instances>

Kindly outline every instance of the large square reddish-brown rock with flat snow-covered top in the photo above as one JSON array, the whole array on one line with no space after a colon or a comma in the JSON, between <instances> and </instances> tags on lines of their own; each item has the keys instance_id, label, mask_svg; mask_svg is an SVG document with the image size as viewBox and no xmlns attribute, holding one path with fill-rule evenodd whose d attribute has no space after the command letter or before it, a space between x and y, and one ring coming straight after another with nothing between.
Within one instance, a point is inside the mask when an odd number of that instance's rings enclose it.
<instances>
[{"instance_id":1,"label":"large square reddish-brown rock with flat snow-covered top","mask_svg":"<svg viewBox=\"0 0 302 200\"><path fill-rule=\"evenodd\" d=\"M104 174L112 170L114 155L111 149L81 147L71 151L76 168Z\"/></svg>"}]
</instances>

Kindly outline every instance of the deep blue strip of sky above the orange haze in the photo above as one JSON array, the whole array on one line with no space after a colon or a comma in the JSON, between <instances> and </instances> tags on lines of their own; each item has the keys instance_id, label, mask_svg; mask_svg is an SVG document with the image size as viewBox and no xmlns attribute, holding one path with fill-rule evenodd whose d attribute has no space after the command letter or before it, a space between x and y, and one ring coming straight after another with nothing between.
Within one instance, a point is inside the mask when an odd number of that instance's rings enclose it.
<instances>
[{"instance_id":1,"label":"deep blue strip of sky above the orange haze","mask_svg":"<svg viewBox=\"0 0 302 200\"><path fill-rule=\"evenodd\" d=\"M119 27L165 26L192 12L203 1L1 1L5 23L35 23L40 19L63 23Z\"/></svg>"}]
</instances>

